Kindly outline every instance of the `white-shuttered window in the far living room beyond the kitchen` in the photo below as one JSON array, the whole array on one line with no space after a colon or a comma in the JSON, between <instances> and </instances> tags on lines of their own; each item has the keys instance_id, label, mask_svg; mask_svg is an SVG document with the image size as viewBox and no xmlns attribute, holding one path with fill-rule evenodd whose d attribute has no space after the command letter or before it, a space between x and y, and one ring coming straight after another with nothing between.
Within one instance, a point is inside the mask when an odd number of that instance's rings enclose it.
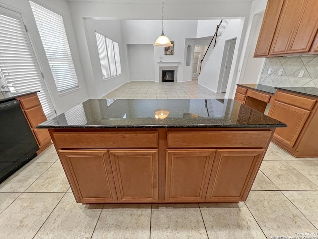
<instances>
[{"instance_id":1,"label":"white-shuttered window in the far living room beyond the kitchen","mask_svg":"<svg viewBox=\"0 0 318 239\"><path fill-rule=\"evenodd\" d=\"M96 34L97 48L103 78L107 79L121 74L118 42L106 36Z\"/></svg>"}]
</instances>

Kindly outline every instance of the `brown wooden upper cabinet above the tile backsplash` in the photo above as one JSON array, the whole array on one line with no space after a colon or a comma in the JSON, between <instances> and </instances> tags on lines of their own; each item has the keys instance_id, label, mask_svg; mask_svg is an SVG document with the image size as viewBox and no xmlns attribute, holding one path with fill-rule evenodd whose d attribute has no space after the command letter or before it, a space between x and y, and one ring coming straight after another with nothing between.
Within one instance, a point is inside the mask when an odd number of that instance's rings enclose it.
<instances>
[{"instance_id":1,"label":"brown wooden upper cabinet above the tile backsplash","mask_svg":"<svg viewBox=\"0 0 318 239\"><path fill-rule=\"evenodd\" d=\"M269 0L255 57L318 54L317 0Z\"/></svg>"}]
</instances>

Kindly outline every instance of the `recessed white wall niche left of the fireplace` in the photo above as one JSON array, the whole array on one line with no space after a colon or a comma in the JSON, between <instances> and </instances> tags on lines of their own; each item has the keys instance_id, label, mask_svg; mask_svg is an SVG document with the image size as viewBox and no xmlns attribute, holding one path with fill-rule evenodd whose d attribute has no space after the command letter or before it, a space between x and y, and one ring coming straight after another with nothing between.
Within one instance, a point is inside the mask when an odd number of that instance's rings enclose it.
<instances>
[{"instance_id":1,"label":"recessed white wall niche left of the fireplace","mask_svg":"<svg viewBox=\"0 0 318 239\"><path fill-rule=\"evenodd\" d=\"M127 45L131 81L154 81L154 46Z\"/></svg>"}]
</instances>

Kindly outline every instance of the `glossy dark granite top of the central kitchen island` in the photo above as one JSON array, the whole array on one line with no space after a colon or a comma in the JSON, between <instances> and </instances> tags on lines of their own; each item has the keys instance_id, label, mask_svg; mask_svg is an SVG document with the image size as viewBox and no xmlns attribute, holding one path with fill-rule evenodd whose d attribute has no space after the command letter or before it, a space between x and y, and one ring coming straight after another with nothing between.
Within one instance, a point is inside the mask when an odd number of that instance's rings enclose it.
<instances>
[{"instance_id":1,"label":"glossy dark granite top of the central kitchen island","mask_svg":"<svg viewBox=\"0 0 318 239\"><path fill-rule=\"evenodd\" d=\"M155 116L158 109L170 113ZM158 117L159 116L159 117ZM286 127L232 99L87 100L38 128L268 128Z\"/></svg>"}]
</instances>

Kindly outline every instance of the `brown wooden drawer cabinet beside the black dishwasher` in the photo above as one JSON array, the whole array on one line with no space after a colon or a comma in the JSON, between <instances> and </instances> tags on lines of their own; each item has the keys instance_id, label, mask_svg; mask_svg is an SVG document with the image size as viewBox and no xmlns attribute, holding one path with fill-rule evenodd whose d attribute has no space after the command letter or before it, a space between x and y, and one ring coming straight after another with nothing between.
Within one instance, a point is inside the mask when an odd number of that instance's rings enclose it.
<instances>
[{"instance_id":1,"label":"brown wooden drawer cabinet beside the black dishwasher","mask_svg":"<svg viewBox=\"0 0 318 239\"><path fill-rule=\"evenodd\" d=\"M25 95L16 98L20 102L20 106L23 110L24 116L27 119L29 126L33 132L39 150L37 154L42 152L48 146L52 144L51 137L47 129L37 129L36 126L46 121L46 116L43 112L40 100L37 93Z\"/></svg>"}]
</instances>

